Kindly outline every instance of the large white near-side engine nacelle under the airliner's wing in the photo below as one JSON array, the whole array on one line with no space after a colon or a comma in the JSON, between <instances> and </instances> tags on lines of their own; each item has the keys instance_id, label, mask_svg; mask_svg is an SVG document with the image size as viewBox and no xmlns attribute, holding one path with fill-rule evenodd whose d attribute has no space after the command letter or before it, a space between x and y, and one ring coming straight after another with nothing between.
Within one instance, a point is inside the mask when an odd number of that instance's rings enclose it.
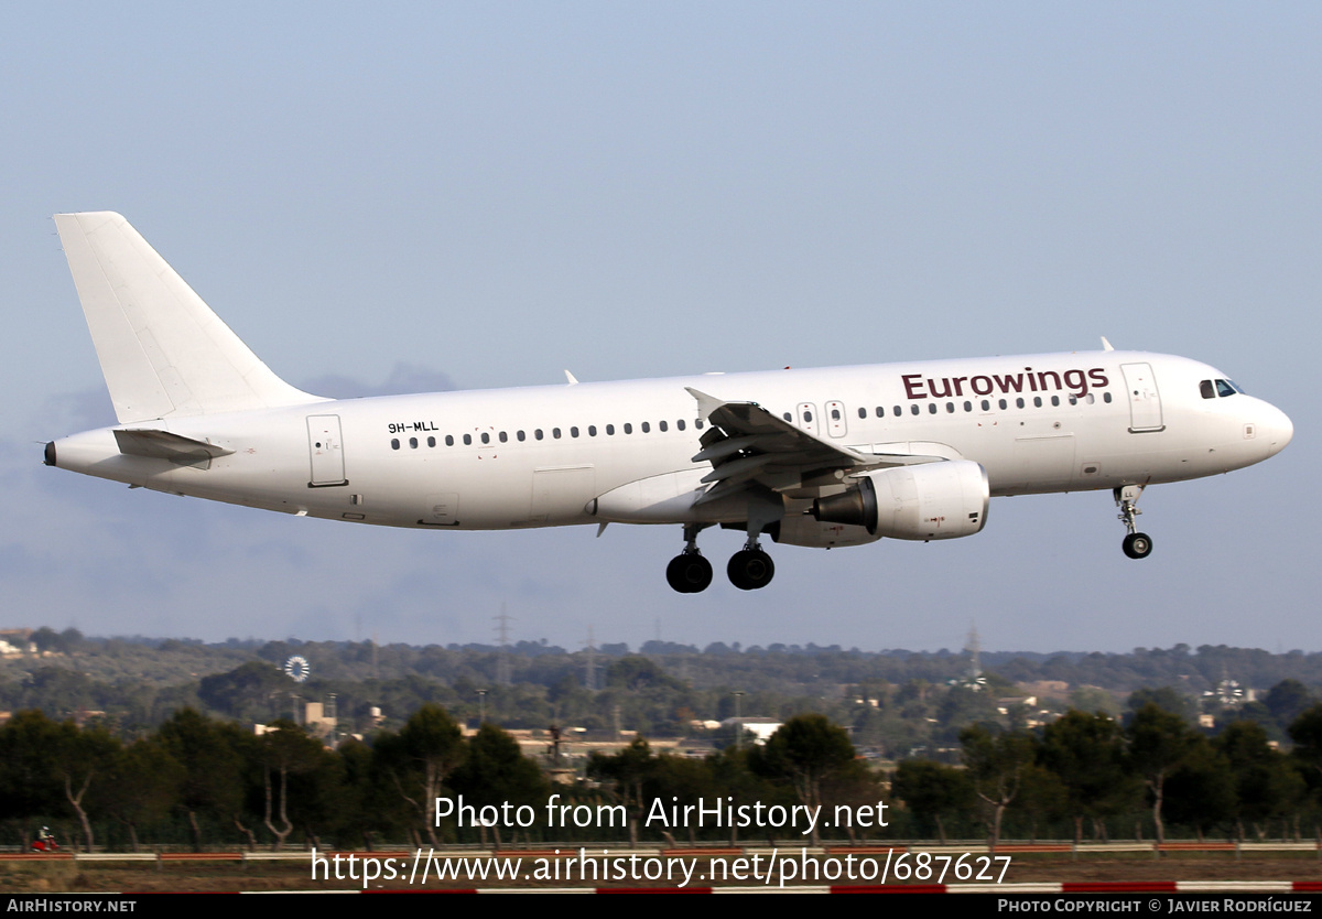
<instances>
[{"instance_id":1,"label":"large white near-side engine nacelle under the airliner's wing","mask_svg":"<svg viewBox=\"0 0 1322 919\"><path fill-rule=\"evenodd\" d=\"M892 539L953 539L986 525L992 489L986 469L972 460L899 465L857 479L849 491L813 501L813 517Z\"/></svg>"}]
</instances>

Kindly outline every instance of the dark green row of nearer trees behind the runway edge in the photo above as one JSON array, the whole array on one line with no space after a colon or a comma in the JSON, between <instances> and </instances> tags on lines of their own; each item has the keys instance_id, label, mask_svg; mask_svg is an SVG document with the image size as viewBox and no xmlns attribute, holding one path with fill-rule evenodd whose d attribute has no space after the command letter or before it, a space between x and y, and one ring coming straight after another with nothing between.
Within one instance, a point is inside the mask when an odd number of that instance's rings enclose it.
<instances>
[{"instance_id":1,"label":"dark green row of nearer trees behind the runway edge","mask_svg":"<svg viewBox=\"0 0 1322 919\"><path fill-rule=\"evenodd\" d=\"M656 820L673 807L760 803L863 813L884 801L888 820L834 826L850 840L941 838L1006 833L1085 834L1104 840L1133 830L1163 841L1178 828L1203 837L1317 834L1322 792L1322 705L1290 725L1281 752L1261 725L1237 721L1208 738L1157 701L1125 721L1071 710L1038 730L966 726L960 762L907 759L894 771L858 756L849 733L821 714L788 719L765 744L747 738L706 758L658 755L645 739L595 754L572 785L553 785L504 730L484 723L464 737L436 705L370 742L327 748L292 722L264 734L176 711L159 729L126 740L103 726L79 729L40 711L0 727L0 826L25 845L42 824L83 848L139 850L152 845L321 849L382 845L640 838L690 844L740 838L820 841L822 826L752 824L697 826ZM551 795L608 808L619 822L550 826ZM473 825L436 799L475 809L526 805L527 822ZM1307 821L1307 822L1305 822Z\"/></svg>"}]
</instances>

